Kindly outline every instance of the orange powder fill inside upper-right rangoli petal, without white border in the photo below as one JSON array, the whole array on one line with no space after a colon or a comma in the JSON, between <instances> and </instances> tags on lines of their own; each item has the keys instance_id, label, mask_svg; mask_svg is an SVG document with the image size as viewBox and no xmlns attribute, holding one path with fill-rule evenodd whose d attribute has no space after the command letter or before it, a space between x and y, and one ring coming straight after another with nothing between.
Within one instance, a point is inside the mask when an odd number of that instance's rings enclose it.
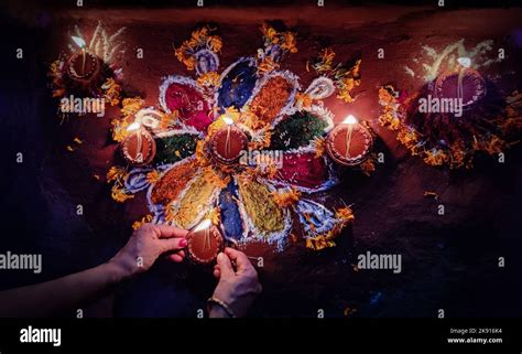
<instances>
[{"instance_id":1,"label":"orange powder fill inside upper-right rangoli petal, without white border","mask_svg":"<svg viewBox=\"0 0 522 354\"><path fill-rule=\"evenodd\" d=\"M270 78L252 99L251 111L264 122L271 124L286 106L292 85L282 76Z\"/></svg>"}]
</instances>

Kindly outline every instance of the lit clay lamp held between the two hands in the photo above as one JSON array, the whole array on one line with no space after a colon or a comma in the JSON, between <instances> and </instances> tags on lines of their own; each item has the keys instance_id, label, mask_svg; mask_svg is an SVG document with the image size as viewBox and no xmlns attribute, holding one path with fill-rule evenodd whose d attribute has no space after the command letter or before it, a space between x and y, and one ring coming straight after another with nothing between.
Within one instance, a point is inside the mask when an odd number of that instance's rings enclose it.
<instances>
[{"instance_id":1,"label":"lit clay lamp held between the two hands","mask_svg":"<svg viewBox=\"0 0 522 354\"><path fill-rule=\"evenodd\" d=\"M209 265L216 261L217 255L222 251L225 240L219 229L210 219L200 222L187 236L186 253L188 258L198 265Z\"/></svg>"}]
</instances>

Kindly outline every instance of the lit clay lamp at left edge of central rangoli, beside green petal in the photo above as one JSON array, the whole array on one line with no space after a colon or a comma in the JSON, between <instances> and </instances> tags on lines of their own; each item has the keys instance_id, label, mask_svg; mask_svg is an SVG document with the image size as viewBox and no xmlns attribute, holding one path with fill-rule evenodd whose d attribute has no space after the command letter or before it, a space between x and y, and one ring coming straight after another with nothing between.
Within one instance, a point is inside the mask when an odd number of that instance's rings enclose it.
<instances>
[{"instance_id":1,"label":"lit clay lamp at left edge of central rangoli, beside green petal","mask_svg":"<svg viewBox=\"0 0 522 354\"><path fill-rule=\"evenodd\" d=\"M143 126L134 121L127 131L129 135L121 142L123 158L132 165L144 165L152 162L156 153L156 142Z\"/></svg>"}]
</instances>

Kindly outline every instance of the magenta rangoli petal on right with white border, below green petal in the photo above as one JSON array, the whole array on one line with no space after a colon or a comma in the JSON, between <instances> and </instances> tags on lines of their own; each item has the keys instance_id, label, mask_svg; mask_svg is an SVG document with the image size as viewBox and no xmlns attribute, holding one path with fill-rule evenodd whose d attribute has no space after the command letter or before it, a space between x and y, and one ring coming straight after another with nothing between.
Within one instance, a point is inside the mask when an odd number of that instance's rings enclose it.
<instances>
[{"instance_id":1,"label":"magenta rangoli petal on right with white border, below green petal","mask_svg":"<svg viewBox=\"0 0 522 354\"><path fill-rule=\"evenodd\" d=\"M303 192L326 190L336 182L331 167L324 157L316 157L312 148L285 152L276 180Z\"/></svg>"}]
</instances>

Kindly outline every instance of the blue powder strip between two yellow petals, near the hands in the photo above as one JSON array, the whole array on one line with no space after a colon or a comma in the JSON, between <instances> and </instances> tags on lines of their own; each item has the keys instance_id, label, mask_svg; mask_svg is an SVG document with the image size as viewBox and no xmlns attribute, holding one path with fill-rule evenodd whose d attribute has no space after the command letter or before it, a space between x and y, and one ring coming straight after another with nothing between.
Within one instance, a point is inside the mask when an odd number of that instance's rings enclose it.
<instances>
[{"instance_id":1,"label":"blue powder strip between two yellow petals, near the hands","mask_svg":"<svg viewBox=\"0 0 522 354\"><path fill-rule=\"evenodd\" d=\"M243 233L242 219L239 207L236 203L238 199L238 187L233 181L224 189L219 195L219 210L225 238L240 239Z\"/></svg>"}]
</instances>

